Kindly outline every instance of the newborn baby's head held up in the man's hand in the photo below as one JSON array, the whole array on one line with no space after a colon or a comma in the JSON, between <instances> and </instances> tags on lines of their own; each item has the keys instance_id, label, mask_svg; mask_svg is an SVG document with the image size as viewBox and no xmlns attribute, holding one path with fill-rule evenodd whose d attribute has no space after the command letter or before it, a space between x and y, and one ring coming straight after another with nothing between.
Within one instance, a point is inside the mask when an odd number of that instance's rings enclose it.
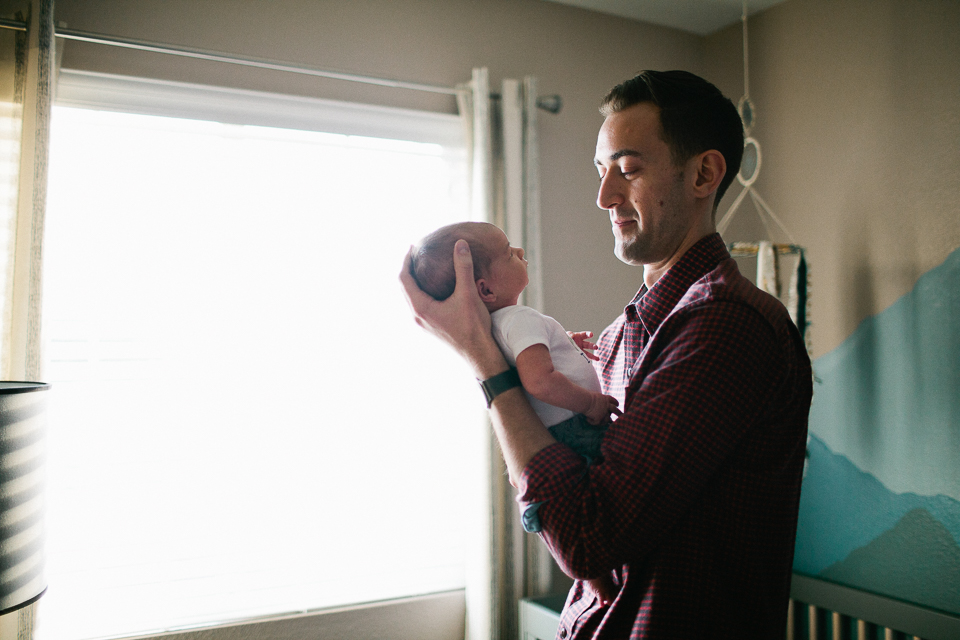
<instances>
[{"instance_id":1,"label":"newborn baby's head held up in the man's hand","mask_svg":"<svg viewBox=\"0 0 960 640\"><path fill-rule=\"evenodd\" d=\"M410 271L420 288L437 300L446 300L457 284L453 246L466 240L473 256L473 279L491 311L517 304L527 286L523 249L510 246L507 236L486 222L458 222L441 227L414 247Z\"/></svg>"}]
</instances>

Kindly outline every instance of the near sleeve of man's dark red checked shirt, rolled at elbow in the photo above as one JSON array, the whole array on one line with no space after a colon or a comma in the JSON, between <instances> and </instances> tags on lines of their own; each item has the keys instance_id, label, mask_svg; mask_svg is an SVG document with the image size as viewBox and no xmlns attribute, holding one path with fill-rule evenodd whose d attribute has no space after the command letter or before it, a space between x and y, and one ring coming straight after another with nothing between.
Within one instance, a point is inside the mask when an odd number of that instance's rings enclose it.
<instances>
[{"instance_id":1,"label":"near sleeve of man's dark red checked shirt, rolled at elbow","mask_svg":"<svg viewBox=\"0 0 960 640\"><path fill-rule=\"evenodd\" d=\"M642 561L686 514L781 384L773 328L754 309L713 301L678 310L651 339L590 467L551 446L518 482L542 503L541 535L570 576Z\"/></svg>"}]
</instances>

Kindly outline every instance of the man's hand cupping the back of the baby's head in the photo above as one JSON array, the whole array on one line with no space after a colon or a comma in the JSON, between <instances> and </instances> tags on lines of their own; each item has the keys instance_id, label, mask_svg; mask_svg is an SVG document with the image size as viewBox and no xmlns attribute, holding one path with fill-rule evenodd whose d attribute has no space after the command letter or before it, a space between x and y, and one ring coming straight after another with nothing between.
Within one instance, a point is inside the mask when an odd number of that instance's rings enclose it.
<instances>
[{"instance_id":1,"label":"man's hand cupping the back of the baby's head","mask_svg":"<svg viewBox=\"0 0 960 640\"><path fill-rule=\"evenodd\" d=\"M507 362L490 333L490 313L474 284L473 257L467 242L458 240L454 246L457 285L453 294L442 302L420 290L410 273L410 263L408 253L400 271L400 284L416 323L453 347L477 378L485 380L506 371Z\"/></svg>"}]
</instances>

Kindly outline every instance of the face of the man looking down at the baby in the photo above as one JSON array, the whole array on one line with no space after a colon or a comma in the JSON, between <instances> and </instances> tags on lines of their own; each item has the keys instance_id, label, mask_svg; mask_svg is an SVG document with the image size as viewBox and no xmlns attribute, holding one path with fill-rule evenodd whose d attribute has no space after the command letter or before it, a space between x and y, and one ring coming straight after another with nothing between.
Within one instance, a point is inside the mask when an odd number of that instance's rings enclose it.
<instances>
[{"instance_id":1,"label":"face of the man looking down at the baby","mask_svg":"<svg viewBox=\"0 0 960 640\"><path fill-rule=\"evenodd\" d=\"M660 137L660 108L641 102L607 117L597 137L597 206L610 213L614 253L632 265L670 260L693 225L686 171Z\"/></svg>"}]
</instances>

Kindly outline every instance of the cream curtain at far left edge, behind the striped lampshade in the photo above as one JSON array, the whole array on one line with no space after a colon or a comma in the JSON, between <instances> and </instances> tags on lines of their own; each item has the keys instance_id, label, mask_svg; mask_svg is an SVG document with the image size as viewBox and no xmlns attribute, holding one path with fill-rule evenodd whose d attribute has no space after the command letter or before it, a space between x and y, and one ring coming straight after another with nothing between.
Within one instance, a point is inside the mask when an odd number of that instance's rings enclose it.
<instances>
[{"instance_id":1,"label":"cream curtain at far left edge, behind the striped lampshade","mask_svg":"<svg viewBox=\"0 0 960 640\"><path fill-rule=\"evenodd\" d=\"M53 0L23 0L16 18L26 31L0 29L0 376L39 381ZM0 616L0 638L33 637L36 606Z\"/></svg>"}]
</instances>

